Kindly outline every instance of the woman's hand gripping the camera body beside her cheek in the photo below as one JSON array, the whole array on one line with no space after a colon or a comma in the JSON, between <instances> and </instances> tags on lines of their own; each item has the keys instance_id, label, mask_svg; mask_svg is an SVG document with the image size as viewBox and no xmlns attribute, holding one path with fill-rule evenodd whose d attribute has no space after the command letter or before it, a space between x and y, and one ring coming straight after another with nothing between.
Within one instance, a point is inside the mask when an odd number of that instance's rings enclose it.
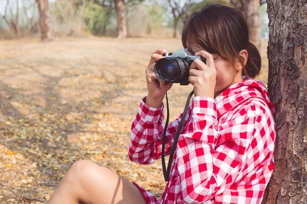
<instances>
[{"instance_id":1,"label":"woman's hand gripping the camera body beside her cheek","mask_svg":"<svg viewBox=\"0 0 307 204\"><path fill-rule=\"evenodd\" d=\"M189 81L194 86L194 94L195 96L214 98L216 69L213 55L204 50L195 53L195 55L206 58L206 64L200 59L195 59L190 66Z\"/></svg>"}]
</instances>

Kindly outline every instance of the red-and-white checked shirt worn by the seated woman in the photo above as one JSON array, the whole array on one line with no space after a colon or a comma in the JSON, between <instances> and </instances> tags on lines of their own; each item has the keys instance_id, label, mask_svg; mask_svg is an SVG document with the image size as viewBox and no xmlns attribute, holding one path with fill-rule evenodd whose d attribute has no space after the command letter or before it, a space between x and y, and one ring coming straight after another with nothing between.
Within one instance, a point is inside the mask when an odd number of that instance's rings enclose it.
<instances>
[{"instance_id":1,"label":"red-and-white checked shirt worn by the seated woman","mask_svg":"<svg viewBox=\"0 0 307 204\"><path fill-rule=\"evenodd\" d=\"M247 79L247 78L245 78ZM131 126L131 161L161 158L164 108L143 98ZM274 169L274 106L265 86L247 79L215 99L194 97L177 144L169 182L161 200L134 183L146 203L261 203ZM170 154L182 114L169 124Z\"/></svg>"}]
</instances>

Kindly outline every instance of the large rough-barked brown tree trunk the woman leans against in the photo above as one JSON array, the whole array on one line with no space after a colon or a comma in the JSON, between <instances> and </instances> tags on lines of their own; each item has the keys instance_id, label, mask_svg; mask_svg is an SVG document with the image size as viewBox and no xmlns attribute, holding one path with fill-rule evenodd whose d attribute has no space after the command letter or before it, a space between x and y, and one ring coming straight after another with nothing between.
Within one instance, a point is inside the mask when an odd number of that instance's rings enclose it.
<instances>
[{"instance_id":1,"label":"large rough-barked brown tree trunk the woman leans against","mask_svg":"<svg viewBox=\"0 0 307 204\"><path fill-rule=\"evenodd\" d=\"M267 2L268 87L277 137L264 203L307 203L307 1Z\"/></svg>"}]
</instances>

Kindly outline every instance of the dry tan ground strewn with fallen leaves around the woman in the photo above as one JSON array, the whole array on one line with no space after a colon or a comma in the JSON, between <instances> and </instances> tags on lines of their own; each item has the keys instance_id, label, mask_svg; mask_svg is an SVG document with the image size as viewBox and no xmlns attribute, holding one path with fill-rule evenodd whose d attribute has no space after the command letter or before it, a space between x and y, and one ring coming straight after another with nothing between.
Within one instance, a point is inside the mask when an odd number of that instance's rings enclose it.
<instances>
[{"instance_id":1,"label":"dry tan ground strewn with fallen leaves around the woman","mask_svg":"<svg viewBox=\"0 0 307 204\"><path fill-rule=\"evenodd\" d=\"M267 42L262 44L260 79L267 83ZM151 53L181 46L179 39L0 41L0 203L43 202L80 159L101 163L161 196L161 161L130 162L129 132L147 93ZM171 119L191 90L174 85L169 91Z\"/></svg>"}]
</instances>

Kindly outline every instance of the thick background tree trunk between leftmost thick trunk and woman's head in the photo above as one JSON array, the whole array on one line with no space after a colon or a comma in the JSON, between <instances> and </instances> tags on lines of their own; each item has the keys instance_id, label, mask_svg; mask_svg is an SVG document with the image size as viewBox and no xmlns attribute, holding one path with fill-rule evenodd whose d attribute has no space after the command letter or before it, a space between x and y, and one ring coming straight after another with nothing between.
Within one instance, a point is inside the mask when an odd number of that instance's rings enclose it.
<instances>
[{"instance_id":1,"label":"thick background tree trunk between leftmost thick trunk and woman's head","mask_svg":"<svg viewBox=\"0 0 307 204\"><path fill-rule=\"evenodd\" d=\"M124 0L115 0L115 8L117 13L117 38L125 38L127 37L127 27Z\"/></svg>"}]
</instances>

